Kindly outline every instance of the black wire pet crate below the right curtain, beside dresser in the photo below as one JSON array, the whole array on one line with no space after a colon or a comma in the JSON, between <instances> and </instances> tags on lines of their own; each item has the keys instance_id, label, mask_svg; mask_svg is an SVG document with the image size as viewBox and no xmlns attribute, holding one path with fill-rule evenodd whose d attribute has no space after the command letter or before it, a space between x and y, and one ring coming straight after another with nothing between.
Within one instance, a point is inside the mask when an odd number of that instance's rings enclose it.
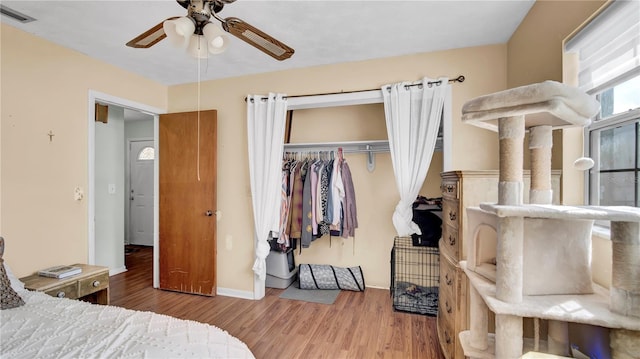
<instances>
[{"instance_id":1,"label":"black wire pet crate below the right curtain, beside dresser","mask_svg":"<svg viewBox=\"0 0 640 359\"><path fill-rule=\"evenodd\" d=\"M414 246L411 237L395 237L391 250L391 296L396 311L438 314L440 253Z\"/></svg>"}]
</instances>

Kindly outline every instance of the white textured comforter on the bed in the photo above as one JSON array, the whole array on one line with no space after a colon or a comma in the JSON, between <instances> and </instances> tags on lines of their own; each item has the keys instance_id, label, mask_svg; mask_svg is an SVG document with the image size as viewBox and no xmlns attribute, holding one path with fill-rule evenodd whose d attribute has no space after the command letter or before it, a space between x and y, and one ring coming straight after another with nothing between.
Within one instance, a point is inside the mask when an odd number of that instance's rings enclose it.
<instances>
[{"instance_id":1,"label":"white textured comforter on the bed","mask_svg":"<svg viewBox=\"0 0 640 359\"><path fill-rule=\"evenodd\" d=\"M212 325L166 315L20 292L0 311L2 358L254 358Z\"/></svg>"}]
</instances>

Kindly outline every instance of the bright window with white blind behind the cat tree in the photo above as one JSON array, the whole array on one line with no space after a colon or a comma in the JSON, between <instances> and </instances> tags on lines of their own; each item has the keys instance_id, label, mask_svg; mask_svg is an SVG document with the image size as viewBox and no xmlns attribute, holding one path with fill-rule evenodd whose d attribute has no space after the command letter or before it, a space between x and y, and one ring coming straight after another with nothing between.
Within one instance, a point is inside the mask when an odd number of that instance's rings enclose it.
<instances>
[{"instance_id":1,"label":"bright window with white blind behind the cat tree","mask_svg":"<svg viewBox=\"0 0 640 359\"><path fill-rule=\"evenodd\" d=\"M612 1L565 44L601 110L585 129L590 205L640 207L640 2Z\"/></svg>"}]
</instances>

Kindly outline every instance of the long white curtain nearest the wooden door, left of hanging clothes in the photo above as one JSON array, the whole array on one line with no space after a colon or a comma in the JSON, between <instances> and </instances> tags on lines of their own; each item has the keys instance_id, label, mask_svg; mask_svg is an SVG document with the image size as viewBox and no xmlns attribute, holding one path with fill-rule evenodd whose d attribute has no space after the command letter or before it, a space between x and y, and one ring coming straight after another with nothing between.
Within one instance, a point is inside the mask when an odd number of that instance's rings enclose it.
<instances>
[{"instance_id":1,"label":"long white curtain nearest the wooden door, left of hanging clothes","mask_svg":"<svg viewBox=\"0 0 640 359\"><path fill-rule=\"evenodd\" d=\"M255 226L256 260L253 271L265 280L269 232L278 231L282 151L287 102L283 94L247 97L249 176Z\"/></svg>"}]
</instances>

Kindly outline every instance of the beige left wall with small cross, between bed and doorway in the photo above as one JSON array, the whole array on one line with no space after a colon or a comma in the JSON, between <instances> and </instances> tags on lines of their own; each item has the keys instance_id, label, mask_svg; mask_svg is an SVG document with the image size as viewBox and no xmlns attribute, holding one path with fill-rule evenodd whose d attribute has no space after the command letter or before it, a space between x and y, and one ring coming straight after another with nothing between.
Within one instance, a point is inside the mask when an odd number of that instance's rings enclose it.
<instances>
[{"instance_id":1,"label":"beige left wall with small cross, between bed and doorway","mask_svg":"<svg viewBox=\"0 0 640 359\"><path fill-rule=\"evenodd\" d=\"M0 40L7 262L19 276L86 262L87 200L73 194L88 186L89 90L166 108L167 88L5 24Z\"/></svg>"}]
</instances>

